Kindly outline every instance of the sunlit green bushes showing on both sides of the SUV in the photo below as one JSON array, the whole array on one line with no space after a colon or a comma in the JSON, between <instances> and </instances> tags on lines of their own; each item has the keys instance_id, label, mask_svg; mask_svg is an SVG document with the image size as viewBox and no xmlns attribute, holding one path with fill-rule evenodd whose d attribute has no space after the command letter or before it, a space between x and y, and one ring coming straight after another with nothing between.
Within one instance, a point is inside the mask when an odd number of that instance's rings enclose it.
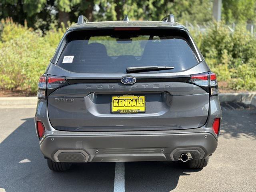
<instances>
[{"instance_id":1,"label":"sunlit green bushes showing on both sides of the SUV","mask_svg":"<svg viewBox=\"0 0 256 192\"><path fill-rule=\"evenodd\" d=\"M65 32L54 28L43 33L12 22L0 24L0 88L36 93L38 78ZM223 23L212 23L204 32L191 31L219 81L233 90L256 90L256 38L245 26L235 32Z\"/></svg>"}]
</instances>

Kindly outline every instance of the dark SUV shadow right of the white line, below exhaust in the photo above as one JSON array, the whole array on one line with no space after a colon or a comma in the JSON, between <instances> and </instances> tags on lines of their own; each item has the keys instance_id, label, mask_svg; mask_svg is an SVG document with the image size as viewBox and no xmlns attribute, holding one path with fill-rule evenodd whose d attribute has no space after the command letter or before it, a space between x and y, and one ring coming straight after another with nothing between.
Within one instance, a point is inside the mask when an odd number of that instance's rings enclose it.
<instances>
[{"instance_id":1,"label":"dark SUV shadow right of the white line, below exhaust","mask_svg":"<svg viewBox=\"0 0 256 192\"><path fill-rule=\"evenodd\" d=\"M186 169L180 162L126 162L126 192L170 192L175 189L180 176L202 169Z\"/></svg>"}]
</instances>

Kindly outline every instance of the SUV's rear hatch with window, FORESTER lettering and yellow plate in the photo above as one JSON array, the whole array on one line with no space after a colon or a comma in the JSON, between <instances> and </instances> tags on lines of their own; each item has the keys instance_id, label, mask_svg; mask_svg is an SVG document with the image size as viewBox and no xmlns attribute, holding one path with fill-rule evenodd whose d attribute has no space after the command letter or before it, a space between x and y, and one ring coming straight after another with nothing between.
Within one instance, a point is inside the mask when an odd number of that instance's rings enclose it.
<instances>
[{"instance_id":1,"label":"SUV's rear hatch with window, FORESTER lettering and yellow plate","mask_svg":"<svg viewBox=\"0 0 256 192\"><path fill-rule=\"evenodd\" d=\"M177 130L205 124L208 78L199 78L198 86L191 76L208 76L209 68L185 30L74 31L62 44L58 62L46 71L55 129Z\"/></svg>"}]
</instances>

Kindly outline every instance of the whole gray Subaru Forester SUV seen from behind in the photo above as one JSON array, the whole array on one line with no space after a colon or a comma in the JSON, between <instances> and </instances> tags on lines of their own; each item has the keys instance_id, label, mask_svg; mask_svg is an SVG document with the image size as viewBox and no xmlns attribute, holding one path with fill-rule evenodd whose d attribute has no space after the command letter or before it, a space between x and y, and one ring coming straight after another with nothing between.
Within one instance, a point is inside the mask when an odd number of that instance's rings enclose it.
<instances>
[{"instance_id":1,"label":"whole gray Subaru Forester SUV seen from behind","mask_svg":"<svg viewBox=\"0 0 256 192\"><path fill-rule=\"evenodd\" d=\"M79 16L38 84L36 132L55 171L118 161L203 168L221 118L216 74L173 15L110 22Z\"/></svg>"}]
</instances>

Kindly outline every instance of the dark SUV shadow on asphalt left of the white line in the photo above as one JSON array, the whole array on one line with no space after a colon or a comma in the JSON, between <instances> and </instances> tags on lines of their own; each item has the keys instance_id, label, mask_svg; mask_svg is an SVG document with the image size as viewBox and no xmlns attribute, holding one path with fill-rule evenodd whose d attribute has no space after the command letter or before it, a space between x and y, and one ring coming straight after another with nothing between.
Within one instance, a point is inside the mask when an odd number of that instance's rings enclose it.
<instances>
[{"instance_id":1,"label":"dark SUV shadow on asphalt left of the white line","mask_svg":"<svg viewBox=\"0 0 256 192\"><path fill-rule=\"evenodd\" d=\"M48 169L40 152L34 118L0 143L0 188L6 192L112 192L115 163L74 164L67 172Z\"/></svg>"}]
</instances>

